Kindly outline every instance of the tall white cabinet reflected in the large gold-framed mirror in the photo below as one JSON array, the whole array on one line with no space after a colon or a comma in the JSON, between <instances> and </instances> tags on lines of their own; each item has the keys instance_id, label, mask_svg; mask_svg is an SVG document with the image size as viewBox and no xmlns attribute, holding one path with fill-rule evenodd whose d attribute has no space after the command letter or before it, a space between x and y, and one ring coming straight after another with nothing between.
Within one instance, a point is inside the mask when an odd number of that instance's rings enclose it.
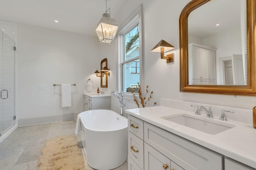
<instances>
[{"instance_id":1,"label":"tall white cabinet reflected in the large gold-framed mirror","mask_svg":"<svg viewBox=\"0 0 256 170\"><path fill-rule=\"evenodd\" d=\"M216 49L191 43L188 63L189 84L216 84Z\"/></svg>"}]
</instances>

